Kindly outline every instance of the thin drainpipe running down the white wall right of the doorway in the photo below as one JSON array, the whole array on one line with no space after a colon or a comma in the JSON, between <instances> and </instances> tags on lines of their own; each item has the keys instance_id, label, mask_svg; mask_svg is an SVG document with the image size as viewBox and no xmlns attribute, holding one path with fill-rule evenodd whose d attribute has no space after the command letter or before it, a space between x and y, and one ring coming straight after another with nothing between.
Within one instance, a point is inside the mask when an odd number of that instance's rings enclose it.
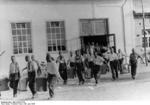
<instances>
[{"instance_id":1,"label":"thin drainpipe running down the white wall right of the doorway","mask_svg":"<svg viewBox=\"0 0 150 105\"><path fill-rule=\"evenodd\" d=\"M122 23L123 23L123 42L124 42L124 52L127 54L126 50L126 37L125 37L125 17L124 17L124 5L126 4L127 0L123 1L123 4L121 5L121 10L122 10ZM125 62L127 63L127 58L125 58Z\"/></svg>"}]
</instances>

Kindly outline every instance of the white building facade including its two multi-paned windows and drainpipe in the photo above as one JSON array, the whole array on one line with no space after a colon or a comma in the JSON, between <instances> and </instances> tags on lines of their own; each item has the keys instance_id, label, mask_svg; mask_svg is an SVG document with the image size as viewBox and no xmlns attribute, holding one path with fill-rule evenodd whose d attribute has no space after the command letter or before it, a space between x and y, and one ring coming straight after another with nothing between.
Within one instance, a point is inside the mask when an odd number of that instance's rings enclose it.
<instances>
[{"instance_id":1,"label":"white building facade including its two multi-paned windows and drainpipe","mask_svg":"<svg viewBox=\"0 0 150 105\"><path fill-rule=\"evenodd\" d=\"M135 47L132 0L0 0L0 13L1 75L11 55L21 70L27 54L45 61L61 50L67 58L81 48L81 36L114 34L116 49L129 54Z\"/></svg>"}]
</instances>

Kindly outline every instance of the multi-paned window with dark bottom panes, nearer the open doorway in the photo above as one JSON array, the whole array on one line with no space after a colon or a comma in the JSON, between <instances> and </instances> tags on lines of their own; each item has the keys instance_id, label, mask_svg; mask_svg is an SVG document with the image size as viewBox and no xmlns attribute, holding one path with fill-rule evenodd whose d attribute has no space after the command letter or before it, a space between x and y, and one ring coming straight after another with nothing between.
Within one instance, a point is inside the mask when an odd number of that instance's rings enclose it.
<instances>
[{"instance_id":1,"label":"multi-paned window with dark bottom panes, nearer the open doorway","mask_svg":"<svg viewBox=\"0 0 150 105\"><path fill-rule=\"evenodd\" d=\"M48 51L65 51L65 25L64 21L47 22Z\"/></svg>"}]
</instances>

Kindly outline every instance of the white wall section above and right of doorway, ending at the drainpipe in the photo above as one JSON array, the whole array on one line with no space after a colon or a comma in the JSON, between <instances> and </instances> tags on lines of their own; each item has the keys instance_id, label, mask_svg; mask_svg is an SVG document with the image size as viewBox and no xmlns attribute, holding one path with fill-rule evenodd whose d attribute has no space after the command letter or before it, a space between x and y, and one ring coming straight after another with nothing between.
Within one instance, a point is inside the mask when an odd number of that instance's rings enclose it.
<instances>
[{"instance_id":1,"label":"white wall section above and right of doorway, ending at the drainpipe","mask_svg":"<svg viewBox=\"0 0 150 105\"><path fill-rule=\"evenodd\" d=\"M95 17L109 19L109 33L113 33L116 35L116 47L117 49L121 48L121 50L124 51L122 29L123 23L121 14L121 8L119 6L99 6L98 4L95 6Z\"/></svg>"}]
</instances>

